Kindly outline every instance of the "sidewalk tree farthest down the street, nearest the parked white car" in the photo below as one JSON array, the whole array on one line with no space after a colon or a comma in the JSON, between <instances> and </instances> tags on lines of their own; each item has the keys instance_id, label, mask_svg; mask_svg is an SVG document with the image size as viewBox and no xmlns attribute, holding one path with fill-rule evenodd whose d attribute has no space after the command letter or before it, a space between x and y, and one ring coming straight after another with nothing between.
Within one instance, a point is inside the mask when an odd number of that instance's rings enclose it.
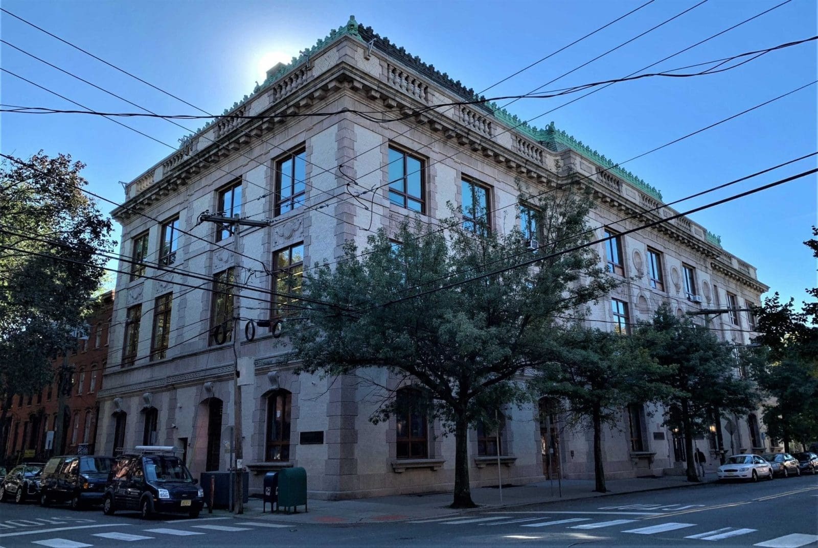
<instances>
[{"instance_id":1,"label":"sidewalk tree farthest down the street, nearest the parked white car","mask_svg":"<svg viewBox=\"0 0 818 548\"><path fill-rule=\"evenodd\" d=\"M690 319L677 317L667 304L658 308L650 323L637 327L635 335L656 362L671 371L665 377L671 389L664 399L671 410L667 425L684 434L687 479L699 481L692 458L693 437L712 421L713 408L746 413L757 403L753 384L735 374L745 365L747 354L719 342Z\"/></svg>"}]
</instances>

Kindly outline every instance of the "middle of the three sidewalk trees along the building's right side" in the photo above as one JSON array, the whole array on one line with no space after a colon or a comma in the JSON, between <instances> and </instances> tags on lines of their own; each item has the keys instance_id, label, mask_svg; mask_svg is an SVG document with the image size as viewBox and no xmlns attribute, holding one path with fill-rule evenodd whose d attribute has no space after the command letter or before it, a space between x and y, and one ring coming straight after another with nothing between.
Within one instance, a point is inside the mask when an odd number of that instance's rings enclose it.
<instances>
[{"instance_id":1,"label":"middle of the three sidewalk trees along the building's right side","mask_svg":"<svg viewBox=\"0 0 818 548\"><path fill-rule=\"evenodd\" d=\"M663 377L672 367L654 363L634 337L573 327L559 336L554 362L533 382L540 394L564 399L569 424L594 432L594 491L605 488L602 429L616 426L631 403L656 402L670 394Z\"/></svg>"}]
</instances>

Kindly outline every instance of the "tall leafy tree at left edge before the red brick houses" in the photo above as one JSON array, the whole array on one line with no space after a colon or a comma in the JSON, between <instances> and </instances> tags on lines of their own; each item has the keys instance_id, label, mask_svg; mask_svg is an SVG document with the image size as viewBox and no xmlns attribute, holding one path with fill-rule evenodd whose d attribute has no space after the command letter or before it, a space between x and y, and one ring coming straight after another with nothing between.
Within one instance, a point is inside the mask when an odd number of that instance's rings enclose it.
<instances>
[{"instance_id":1,"label":"tall leafy tree at left edge before the red brick houses","mask_svg":"<svg viewBox=\"0 0 818 548\"><path fill-rule=\"evenodd\" d=\"M52 381L52 356L73 344L99 284L97 252L113 246L110 221L80 191L83 167L42 153L0 165L0 425L14 394Z\"/></svg>"}]
</instances>

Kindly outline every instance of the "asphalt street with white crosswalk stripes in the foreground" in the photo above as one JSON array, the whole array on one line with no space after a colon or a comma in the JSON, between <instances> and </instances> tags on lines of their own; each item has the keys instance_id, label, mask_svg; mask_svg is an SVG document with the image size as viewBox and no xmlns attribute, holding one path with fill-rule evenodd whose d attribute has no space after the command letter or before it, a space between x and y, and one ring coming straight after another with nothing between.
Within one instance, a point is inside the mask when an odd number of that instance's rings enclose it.
<instances>
[{"instance_id":1,"label":"asphalt street with white crosswalk stripes in the foreground","mask_svg":"<svg viewBox=\"0 0 818 548\"><path fill-rule=\"evenodd\" d=\"M144 521L135 514L0 503L0 547L818 546L818 476L708 484L389 523Z\"/></svg>"}]
</instances>

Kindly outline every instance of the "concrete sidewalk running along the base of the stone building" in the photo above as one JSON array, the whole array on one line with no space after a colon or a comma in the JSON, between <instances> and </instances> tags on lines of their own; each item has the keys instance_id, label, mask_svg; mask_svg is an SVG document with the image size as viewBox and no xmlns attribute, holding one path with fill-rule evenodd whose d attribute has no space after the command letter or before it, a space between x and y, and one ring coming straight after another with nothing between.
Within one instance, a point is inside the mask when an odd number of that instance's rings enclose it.
<instances>
[{"instance_id":1,"label":"concrete sidewalk running along the base of the stone building","mask_svg":"<svg viewBox=\"0 0 818 548\"><path fill-rule=\"evenodd\" d=\"M448 515L458 515L474 510L498 510L510 506L522 506L552 501L570 501L580 498L605 497L628 492L656 491L693 487L715 482L712 474L702 483L688 483L684 476L661 476L656 478L612 479L606 482L609 492L594 492L593 479L564 479L562 497L558 483L542 481L519 487L503 488L503 504L500 504L500 492L497 488L474 488L471 497L479 508L473 510L452 510L447 506L452 503L452 493L435 493L429 495L399 495L393 497L375 497L351 501L321 501L309 499L308 512L299 506L298 514L285 512L262 513L261 499L251 498L245 504L243 519L266 519L276 523L378 523L403 519L434 519ZM206 512L206 510L205 510ZM213 510L213 515L203 517L229 517L227 510Z\"/></svg>"}]
</instances>

